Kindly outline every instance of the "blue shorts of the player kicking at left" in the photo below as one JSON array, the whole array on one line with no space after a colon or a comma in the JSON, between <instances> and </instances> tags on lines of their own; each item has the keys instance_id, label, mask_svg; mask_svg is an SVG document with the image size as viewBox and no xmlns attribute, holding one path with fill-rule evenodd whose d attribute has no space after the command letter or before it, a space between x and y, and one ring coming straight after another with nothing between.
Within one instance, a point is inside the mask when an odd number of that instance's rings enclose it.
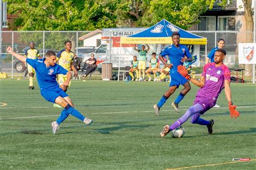
<instances>
[{"instance_id":1,"label":"blue shorts of the player kicking at left","mask_svg":"<svg viewBox=\"0 0 256 170\"><path fill-rule=\"evenodd\" d=\"M66 94L60 87L56 87L54 89L45 89L41 90L41 95L46 99L47 101L51 103L55 103L55 99L59 96L61 97L67 97L68 94Z\"/></svg>"}]
</instances>

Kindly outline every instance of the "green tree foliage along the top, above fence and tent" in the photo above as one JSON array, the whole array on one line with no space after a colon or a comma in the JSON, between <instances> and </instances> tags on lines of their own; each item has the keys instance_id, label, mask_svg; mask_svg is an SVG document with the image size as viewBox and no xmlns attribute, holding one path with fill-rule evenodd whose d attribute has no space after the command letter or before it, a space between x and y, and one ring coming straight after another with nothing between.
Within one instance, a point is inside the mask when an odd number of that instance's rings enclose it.
<instances>
[{"instance_id":1,"label":"green tree foliage along the top, above fence and tent","mask_svg":"<svg viewBox=\"0 0 256 170\"><path fill-rule=\"evenodd\" d=\"M109 27L148 27L167 19L187 29L215 0L5 0L15 27L27 31L92 31ZM220 4L224 6L226 0Z\"/></svg>"}]
</instances>

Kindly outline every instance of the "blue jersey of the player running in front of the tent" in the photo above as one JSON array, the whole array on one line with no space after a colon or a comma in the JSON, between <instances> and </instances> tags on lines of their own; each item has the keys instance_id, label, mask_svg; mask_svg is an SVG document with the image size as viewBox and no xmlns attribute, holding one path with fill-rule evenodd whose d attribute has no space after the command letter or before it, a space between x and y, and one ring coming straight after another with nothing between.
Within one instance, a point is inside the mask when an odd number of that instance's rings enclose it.
<instances>
[{"instance_id":1,"label":"blue jersey of the player running in front of the tent","mask_svg":"<svg viewBox=\"0 0 256 170\"><path fill-rule=\"evenodd\" d=\"M184 58L184 56L187 56L188 58L191 58L191 54L189 53L189 50L187 46L179 44L178 47L176 47L174 44L171 46L167 47L166 49L163 50L162 53L160 53L162 57L164 56L169 56L170 61L172 63L172 69L171 71L177 71L177 66L183 65L183 62L180 60Z\"/></svg>"}]
</instances>

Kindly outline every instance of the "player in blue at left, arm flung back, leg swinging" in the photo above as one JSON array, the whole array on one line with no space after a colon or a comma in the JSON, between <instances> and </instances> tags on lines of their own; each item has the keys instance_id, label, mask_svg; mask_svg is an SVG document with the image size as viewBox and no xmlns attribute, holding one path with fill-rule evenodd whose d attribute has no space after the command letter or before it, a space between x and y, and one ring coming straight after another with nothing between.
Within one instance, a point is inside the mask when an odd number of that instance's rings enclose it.
<instances>
[{"instance_id":1,"label":"player in blue at left, arm flung back, leg swinging","mask_svg":"<svg viewBox=\"0 0 256 170\"><path fill-rule=\"evenodd\" d=\"M20 54L17 54L13 51L11 46L7 48L7 52L12 56L16 57L22 62L27 62L31 65L36 71L36 79L40 87L40 93L47 101L51 103L56 103L61 105L64 109L61 112L59 118L56 121L52 122L52 131L53 134L59 130L59 125L63 122L69 114L79 118L86 125L90 125L92 120L85 118L82 114L77 111L69 98L69 96L59 87L59 84L56 82L56 74L67 75L67 80L64 82L65 86L68 86L71 79L71 71L67 71L60 65L56 64L56 54L55 52L49 50L46 53L46 58L43 59L30 59L26 58Z\"/></svg>"}]
</instances>

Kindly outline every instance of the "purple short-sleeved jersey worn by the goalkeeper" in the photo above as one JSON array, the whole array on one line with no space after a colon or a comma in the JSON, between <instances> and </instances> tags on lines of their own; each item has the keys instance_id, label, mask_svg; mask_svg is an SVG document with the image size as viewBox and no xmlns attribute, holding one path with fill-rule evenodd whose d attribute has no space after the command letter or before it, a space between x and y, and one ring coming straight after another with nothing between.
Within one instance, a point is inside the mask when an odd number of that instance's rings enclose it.
<instances>
[{"instance_id":1,"label":"purple short-sleeved jersey worn by the goalkeeper","mask_svg":"<svg viewBox=\"0 0 256 170\"><path fill-rule=\"evenodd\" d=\"M205 77L204 86L197 91L195 101L208 100L210 103L216 103L218 95L224 88L224 80L230 81L230 71L228 67L222 64L216 67L215 63L208 63L204 66L202 76Z\"/></svg>"}]
</instances>

